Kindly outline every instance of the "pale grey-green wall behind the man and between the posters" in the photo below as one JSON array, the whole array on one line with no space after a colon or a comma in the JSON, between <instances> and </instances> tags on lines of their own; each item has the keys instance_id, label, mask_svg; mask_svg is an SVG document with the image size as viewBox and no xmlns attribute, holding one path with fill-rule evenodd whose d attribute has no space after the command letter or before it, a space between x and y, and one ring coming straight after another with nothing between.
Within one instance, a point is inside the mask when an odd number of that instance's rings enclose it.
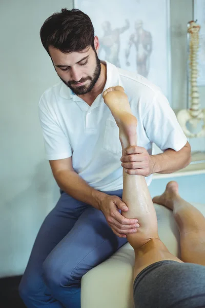
<instances>
[{"instance_id":1,"label":"pale grey-green wall behind the man and between the posters","mask_svg":"<svg viewBox=\"0 0 205 308\"><path fill-rule=\"evenodd\" d=\"M192 19L191 3L171 0L173 108L186 107L186 29ZM71 9L72 1L0 4L0 277L23 273L39 226L58 198L45 160L37 104L44 90L58 82L39 29L63 7ZM182 33L175 31L177 24ZM205 88L200 92L204 97Z\"/></svg>"}]
</instances>

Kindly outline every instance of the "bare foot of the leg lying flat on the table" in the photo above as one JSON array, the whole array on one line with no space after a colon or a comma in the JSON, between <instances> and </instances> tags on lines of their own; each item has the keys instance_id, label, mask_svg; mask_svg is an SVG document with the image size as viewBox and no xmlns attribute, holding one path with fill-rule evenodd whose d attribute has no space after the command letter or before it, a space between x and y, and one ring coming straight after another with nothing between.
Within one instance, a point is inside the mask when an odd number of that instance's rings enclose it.
<instances>
[{"instance_id":1,"label":"bare foot of the leg lying flat on the table","mask_svg":"<svg viewBox=\"0 0 205 308\"><path fill-rule=\"evenodd\" d=\"M165 192L160 196L154 197L152 201L173 210L173 200L176 198L179 198L179 187L177 182L171 181L167 184Z\"/></svg>"}]
</instances>

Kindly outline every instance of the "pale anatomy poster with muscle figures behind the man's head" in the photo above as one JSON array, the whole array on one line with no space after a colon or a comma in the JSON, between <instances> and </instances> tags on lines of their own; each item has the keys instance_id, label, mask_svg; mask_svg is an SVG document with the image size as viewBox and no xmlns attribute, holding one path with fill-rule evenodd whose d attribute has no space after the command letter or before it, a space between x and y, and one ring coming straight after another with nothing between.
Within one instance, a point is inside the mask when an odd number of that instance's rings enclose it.
<instances>
[{"instance_id":1,"label":"pale anatomy poster with muscle figures behind the man's head","mask_svg":"<svg viewBox=\"0 0 205 308\"><path fill-rule=\"evenodd\" d=\"M168 0L75 0L88 14L100 42L99 59L136 71L170 99Z\"/></svg>"}]
</instances>

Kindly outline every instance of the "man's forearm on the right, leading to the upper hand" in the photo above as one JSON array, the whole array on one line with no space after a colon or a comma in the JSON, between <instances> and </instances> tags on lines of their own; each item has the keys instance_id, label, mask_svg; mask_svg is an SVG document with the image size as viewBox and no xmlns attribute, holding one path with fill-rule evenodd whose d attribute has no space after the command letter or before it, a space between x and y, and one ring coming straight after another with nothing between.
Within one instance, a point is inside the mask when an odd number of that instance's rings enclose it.
<instances>
[{"instance_id":1,"label":"man's forearm on the right, leading to the upper hand","mask_svg":"<svg viewBox=\"0 0 205 308\"><path fill-rule=\"evenodd\" d=\"M151 156L153 161L153 172L169 174L185 168L191 161L191 147L187 144L179 151L167 149L165 152Z\"/></svg>"}]
</instances>

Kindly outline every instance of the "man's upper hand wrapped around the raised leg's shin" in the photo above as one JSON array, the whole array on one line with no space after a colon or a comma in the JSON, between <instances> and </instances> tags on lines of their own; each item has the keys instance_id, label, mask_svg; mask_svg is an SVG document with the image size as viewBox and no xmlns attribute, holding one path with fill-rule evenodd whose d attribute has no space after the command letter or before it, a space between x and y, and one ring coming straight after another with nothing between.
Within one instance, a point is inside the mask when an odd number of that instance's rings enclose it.
<instances>
[{"instance_id":1,"label":"man's upper hand wrapped around the raised leg's shin","mask_svg":"<svg viewBox=\"0 0 205 308\"><path fill-rule=\"evenodd\" d=\"M121 165L129 175L148 177L153 174L154 159L144 147L131 146L126 155L121 157Z\"/></svg>"}]
</instances>

